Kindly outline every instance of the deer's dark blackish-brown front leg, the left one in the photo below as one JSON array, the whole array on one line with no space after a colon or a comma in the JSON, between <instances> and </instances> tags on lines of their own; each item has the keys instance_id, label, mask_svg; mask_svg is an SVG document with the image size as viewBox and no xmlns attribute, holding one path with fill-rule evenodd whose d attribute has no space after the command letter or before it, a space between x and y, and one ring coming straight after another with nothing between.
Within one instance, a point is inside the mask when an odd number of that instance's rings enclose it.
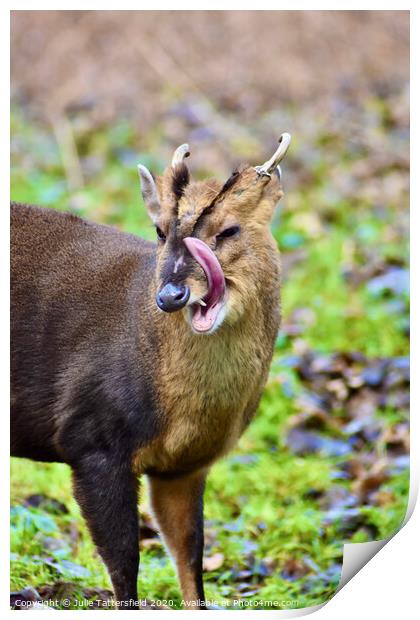
<instances>
[{"instance_id":1,"label":"deer's dark blackish-brown front leg, the left one","mask_svg":"<svg viewBox=\"0 0 420 620\"><path fill-rule=\"evenodd\" d=\"M138 481L129 466L93 454L73 467L74 493L111 577L118 608L139 609Z\"/></svg>"}]
</instances>

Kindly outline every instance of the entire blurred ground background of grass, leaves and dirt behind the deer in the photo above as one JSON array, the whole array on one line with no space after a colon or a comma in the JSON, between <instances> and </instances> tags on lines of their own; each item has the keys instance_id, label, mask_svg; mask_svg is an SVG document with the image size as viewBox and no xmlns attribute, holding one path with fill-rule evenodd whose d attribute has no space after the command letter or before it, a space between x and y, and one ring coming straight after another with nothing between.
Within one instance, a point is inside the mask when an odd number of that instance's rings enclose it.
<instances>
[{"instance_id":1,"label":"entire blurred ground background of grass, leaves and dirt behind the deer","mask_svg":"<svg viewBox=\"0 0 420 620\"><path fill-rule=\"evenodd\" d=\"M14 11L12 199L153 239L136 164L189 142L196 178L283 131L283 325L258 416L212 472L206 591L305 607L343 542L393 533L408 493L409 13ZM147 599L180 597L141 505ZM12 460L12 590L110 596L64 465ZM29 589L28 589L29 588ZM22 597L22 595L19 595Z\"/></svg>"}]
</instances>

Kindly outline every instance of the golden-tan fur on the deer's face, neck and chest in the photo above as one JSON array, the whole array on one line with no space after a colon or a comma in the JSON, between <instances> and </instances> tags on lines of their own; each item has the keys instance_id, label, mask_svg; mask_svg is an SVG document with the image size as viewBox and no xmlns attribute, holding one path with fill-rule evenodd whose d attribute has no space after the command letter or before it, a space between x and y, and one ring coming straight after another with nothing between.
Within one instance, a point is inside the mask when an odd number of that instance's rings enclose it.
<instances>
[{"instance_id":1,"label":"golden-tan fur on the deer's face, neck and chest","mask_svg":"<svg viewBox=\"0 0 420 620\"><path fill-rule=\"evenodd\" d=\"M161 192L171 174L168 170ZM229 286L226 324L207 337L192 333L181 312L161 322L158 393L168 424L164 434L136 453L139 471L188 471L210 464L234 445L261 396L280 316L279 257L267 224L282 194L278 181L259 179L253 169L240 176L222 194L200 231L200 238L214 247L217 232L241 225L240 241L218 255ZM192 233L221 190L216 181L184 189L176 215L181 237ZM159 226L168 233L174 213L165 198L161 195ZM158 250L158 282L170 253L170 248ZM186 281L197 297L205 292L200 268Z\"/></svg>"}]
</instances>

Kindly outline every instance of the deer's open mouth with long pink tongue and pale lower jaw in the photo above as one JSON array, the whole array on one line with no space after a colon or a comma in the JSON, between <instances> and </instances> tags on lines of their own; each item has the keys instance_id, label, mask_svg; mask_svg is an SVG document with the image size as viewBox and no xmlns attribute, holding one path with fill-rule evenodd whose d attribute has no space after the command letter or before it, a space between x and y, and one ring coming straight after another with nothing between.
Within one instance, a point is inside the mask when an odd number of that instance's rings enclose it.
<instances>
[{"instance_id":1,"label":"deer's open mouth with long pink tongue and pale lower jaw","mask_svg":"<svg viewBox=\"0 0 420 620\"><path fill-rule=\"evenodd\" d=\"M220 324L218 318L225 306L225 276L217 256L204 241L186 237L184 243L207 278L206 295L189 306L191 324L196 332L208 333Z\"/></svg>"}]
</instances>

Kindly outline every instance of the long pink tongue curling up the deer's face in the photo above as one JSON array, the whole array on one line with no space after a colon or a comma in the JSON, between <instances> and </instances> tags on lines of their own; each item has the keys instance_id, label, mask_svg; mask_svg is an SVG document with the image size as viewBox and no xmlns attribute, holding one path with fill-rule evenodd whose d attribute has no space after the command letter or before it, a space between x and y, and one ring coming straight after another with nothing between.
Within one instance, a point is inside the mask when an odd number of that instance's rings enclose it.
<instances>
[{"instance_id":1,"label":"long pink tongue curling up the deer's face","mask_svg":"<svg viewBox=\"0 0 420 620\"><path fill-rule=\"evenodd\" d=\"M197 239L196 237L185 237L184 243L188 251L193 255L195 260L204 270L207 277L208 290L204 301L207 304L208 312L212 306L221 301L225 293L225 276L223 270L217 260L216 254L209 246ZM203 308L205 310L205 308Z\"/></svg>"}]
</instances>

